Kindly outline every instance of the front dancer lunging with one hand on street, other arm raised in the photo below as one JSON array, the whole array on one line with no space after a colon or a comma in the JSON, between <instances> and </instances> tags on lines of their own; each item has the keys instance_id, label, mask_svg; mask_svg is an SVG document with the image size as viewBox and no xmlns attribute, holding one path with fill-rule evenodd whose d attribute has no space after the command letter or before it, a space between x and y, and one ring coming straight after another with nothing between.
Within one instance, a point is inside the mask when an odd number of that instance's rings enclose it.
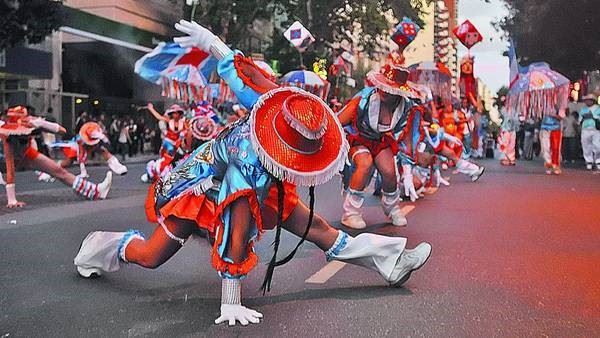
<instances>
[{"instance_id":1,"label":"front dancer lunging with one hand on street, other arm raised","mask_svg":"<svg viewBox=\"0 0 600 338\"><path fill-rule=\"evenodd\" d=\"M241 303L242 278L257 264L254 241L262 231L276 227L275 253L263 290L270 289L275 266L296 251L277 261L282 228L302 237L298 245L304 239L315 243L329 260L370 268L392 285L406 282L430 256L429 244L407 250L405 238L353 238L314 215L314 186L341 169L348 150L327 105L301 89L278 88L251 59L232 52L195 22L182 20L176 28L188 34L176 42L210 51L219 60L219 75L251 113L153 186L147 211L159 225L148 240L137 231L93 232L75 257L79 273L116 271L121 262L157 267L201 227L215 236L212 265L223 279L221 315L215 323L258 323L262 314ZM218 190L215 181L220 181ZM310 208L298 198L296 184L311 187Z\"/></svg>"}]
</instances>

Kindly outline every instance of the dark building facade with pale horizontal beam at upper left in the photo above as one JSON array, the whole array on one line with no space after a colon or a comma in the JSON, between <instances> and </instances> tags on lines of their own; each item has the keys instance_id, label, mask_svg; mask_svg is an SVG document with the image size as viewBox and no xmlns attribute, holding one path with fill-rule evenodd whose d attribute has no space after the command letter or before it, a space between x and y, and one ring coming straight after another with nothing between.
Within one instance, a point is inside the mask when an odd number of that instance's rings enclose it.
<instances>
[{"instance_id":1,"label":"dark building facade with pale horizontal beam at upper left","mask_svg":"<svg viewBox=\"0 0 600 338\"><path fill-rule=\"evenodd\" d=\"M64 22L57 32L41 44L5 51L4 64L10 68L0 63L0 106L27 104L38 113L52 108L54 118L70 129L81 111L128 114L136 105L163 100L159 86L134 74L134 63L174 34L183 1L63 4ZM19 58L35 62L25 67Z\"/></svg>"}]
</instances>

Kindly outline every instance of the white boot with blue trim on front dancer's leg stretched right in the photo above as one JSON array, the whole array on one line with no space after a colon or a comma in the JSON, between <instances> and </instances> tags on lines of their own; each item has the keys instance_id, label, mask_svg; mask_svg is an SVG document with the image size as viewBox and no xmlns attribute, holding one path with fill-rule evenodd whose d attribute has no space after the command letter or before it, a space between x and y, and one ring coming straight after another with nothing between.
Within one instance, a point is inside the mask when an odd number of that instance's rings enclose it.
<instances>
[{"instance_id":1,"label":"white boot with blue trim on front dancer's leg stretched right","mask_svg":"<svg viewBox=\"0 0 600 338\"><path fill-rule=\"evenodd\" d=\"M363 233L351 237L339 231L332 247L325 252L327 260L338 260L378 272L388 283L400 286L431 255L431 245L421 243L408 250L406 238Z\"/></svg>"}]
</instances>

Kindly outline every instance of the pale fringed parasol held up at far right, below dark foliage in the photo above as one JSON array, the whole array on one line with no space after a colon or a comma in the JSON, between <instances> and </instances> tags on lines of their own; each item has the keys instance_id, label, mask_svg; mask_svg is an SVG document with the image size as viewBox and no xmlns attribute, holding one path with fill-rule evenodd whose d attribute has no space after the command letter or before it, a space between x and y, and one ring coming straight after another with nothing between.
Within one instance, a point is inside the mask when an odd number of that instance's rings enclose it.
<instances>
[{"instance_id":1,"label":"pale fringed parasol held up at far right, below dark foliage","mask_svg":"<svg viewBox=\"0 0 600 338\"><path fill-rule=\"evenodd\" d=\"M567 107L570 80L545 62L533 63L519 74L506 98L508 114L542 117Z\"/></svg>"}]
</instances>

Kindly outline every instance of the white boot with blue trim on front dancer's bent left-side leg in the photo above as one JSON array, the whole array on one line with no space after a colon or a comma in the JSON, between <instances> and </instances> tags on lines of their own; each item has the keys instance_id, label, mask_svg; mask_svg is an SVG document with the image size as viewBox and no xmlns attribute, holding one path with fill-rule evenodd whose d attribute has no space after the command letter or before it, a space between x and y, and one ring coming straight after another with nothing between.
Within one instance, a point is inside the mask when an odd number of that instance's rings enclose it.
<instances>
[{"instance_id":1,"label":"white boot with blue trim on front dancer's bent left-side leg","mask_svg":"<svg viewBox=\"0 0 600 338\"><path fill-rule=\"evenodd\" d=\"M87 278L93 274L99 276L102 272L119 270L119 262L127 262L125 248L135 238L144 239L142 234L135 230L91 232L81 243L81 248L73 260L77 272Z\"/></svg>"}]
</instances>

